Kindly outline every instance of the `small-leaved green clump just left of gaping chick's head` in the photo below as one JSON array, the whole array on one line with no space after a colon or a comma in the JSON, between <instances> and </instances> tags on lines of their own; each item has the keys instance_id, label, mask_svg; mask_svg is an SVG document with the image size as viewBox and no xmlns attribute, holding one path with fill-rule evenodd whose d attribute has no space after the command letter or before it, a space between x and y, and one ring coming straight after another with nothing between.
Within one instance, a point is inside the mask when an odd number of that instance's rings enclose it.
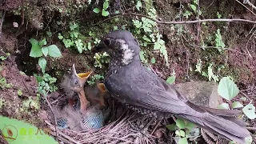
<instances>
[{"instance_id":1,"label":"small-leaved green clump just left of gaping chick's head","mask_svg":"<svg viewBox=\"0 0 256 144\"><path fill-rule=\"evenodd\" d=\"M43 95L47 95L58 90L58 87L55 86L55 82L57 82L57 78L51 77L49 74L43 74L42 76L38 74L34 74L34 77L37 78L38 81L38 92Z\"/></svg>"}]
</instances>

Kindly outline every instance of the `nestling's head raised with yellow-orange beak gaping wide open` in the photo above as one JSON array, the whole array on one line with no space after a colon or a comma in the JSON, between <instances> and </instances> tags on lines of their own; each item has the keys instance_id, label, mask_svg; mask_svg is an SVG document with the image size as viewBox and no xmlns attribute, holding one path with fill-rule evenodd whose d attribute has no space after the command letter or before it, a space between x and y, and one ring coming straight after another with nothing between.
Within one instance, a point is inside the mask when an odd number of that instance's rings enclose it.
<instances>
[{"instance_id":1,"label":"nestling's head raised with yellow-orange beak gaping wide open","mask_svg":"<svg viewBox=\"0 0 256 144\"><path fill-rule=\"evenodd\" d=\"M87 79L92 74L92 70L86 73L79 73L75 70L74 64L72 66L71 74L64 79L61 86L64 88L65 91L74 91L76 93L83 90L84 84L86 83Z\"/></svg>"}]
</instances>

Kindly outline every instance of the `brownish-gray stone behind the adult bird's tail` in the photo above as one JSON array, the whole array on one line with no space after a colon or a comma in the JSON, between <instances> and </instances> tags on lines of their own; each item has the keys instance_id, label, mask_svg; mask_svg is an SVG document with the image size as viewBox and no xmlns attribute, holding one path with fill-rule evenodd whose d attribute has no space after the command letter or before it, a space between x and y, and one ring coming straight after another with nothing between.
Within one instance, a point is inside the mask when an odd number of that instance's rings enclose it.
<instances>
[{"instance_id":1,"label":"brownish-gray stone behind the adult bird's tail","mask_svg":"<svg viewBox=\"0 0 256 144\"><path fill-rule=\"evenodd\" d=\"M217 108L223 103L222 97L218 94L218 85L214 82L185 82L174 87L198 106Z\"/></svg>"}]
</instances>

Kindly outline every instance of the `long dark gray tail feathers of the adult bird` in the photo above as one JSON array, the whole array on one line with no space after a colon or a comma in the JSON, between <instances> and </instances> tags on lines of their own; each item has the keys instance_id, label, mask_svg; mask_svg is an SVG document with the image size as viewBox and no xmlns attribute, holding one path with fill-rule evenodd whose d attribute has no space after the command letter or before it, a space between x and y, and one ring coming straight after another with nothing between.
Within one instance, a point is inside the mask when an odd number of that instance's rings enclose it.
<instances>
[{"instance_id":1,"label":"long dark gray tail feathers of the adult bird","mask_svg":"<svg viewBox=\"0 0 256 144\"><path fill-rule=\"evenodd\" d=\"M203 107L201 108L205 110ZM200 114L199 117L191 114L178 114L178 117L194 122L222 138L234 140L241 144L246 143L247 138L251 138L250 132L245 128L246 122L232 116L236 113L235 110L233 112L233 110L225 111L207 108L206 111L206 113Z\"/></svg>"}]
</instances>

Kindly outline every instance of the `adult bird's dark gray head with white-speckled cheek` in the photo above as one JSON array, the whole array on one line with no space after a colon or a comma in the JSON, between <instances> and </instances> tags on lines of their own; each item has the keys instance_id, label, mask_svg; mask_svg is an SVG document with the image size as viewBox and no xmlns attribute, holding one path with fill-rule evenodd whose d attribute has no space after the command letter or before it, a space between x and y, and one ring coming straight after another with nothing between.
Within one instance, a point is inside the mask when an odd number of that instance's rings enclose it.
<instances>
[{"instance_id":1,"label":"adult bird's dark gray head with white-speckled cheek","mask_svg":"<svg viewBox=\"0 0 256 144\"><path fill-rule=\"evenodd\" d=\"M127 30L114 30L101 39L94 52L106 51L112 61L128 65L139 60L140 47L136 38Z\"/></svg>"}]
</instances>

